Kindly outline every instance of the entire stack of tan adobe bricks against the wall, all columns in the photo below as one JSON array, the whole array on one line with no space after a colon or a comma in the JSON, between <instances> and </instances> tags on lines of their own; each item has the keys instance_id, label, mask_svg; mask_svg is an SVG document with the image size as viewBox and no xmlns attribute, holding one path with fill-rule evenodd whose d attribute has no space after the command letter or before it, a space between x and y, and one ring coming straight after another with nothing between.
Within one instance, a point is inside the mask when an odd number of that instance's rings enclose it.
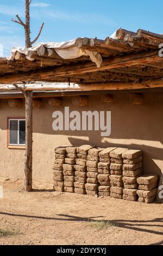
<instances>
[{"instance_id":1,"label":"entire stack of tan adobe bricks against the wall, all columns","mask_svg":"<svg viewBox=\"0 0 163 256\"><path fill-rule=\"evenodd\" d=\"M142 176L142 151L124 148L59 147L53 166L54 190L151 203L158 176ZM138 188L139 186L139 188Z\"/></svg>"}]
</instances>

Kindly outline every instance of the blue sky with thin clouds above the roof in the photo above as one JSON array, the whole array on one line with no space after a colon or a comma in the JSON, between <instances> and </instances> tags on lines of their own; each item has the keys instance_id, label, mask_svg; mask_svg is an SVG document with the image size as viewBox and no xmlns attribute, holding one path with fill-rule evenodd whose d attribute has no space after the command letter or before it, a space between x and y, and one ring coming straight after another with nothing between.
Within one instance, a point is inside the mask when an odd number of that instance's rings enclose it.
<instances>
[{"instance_id":1,"label":"blue sky with thin clouds above the roof","mask_svg":"<svg viewBox=\"0 0 163 256\"><path fill-rule=\"evenodd\" d=\"M38 33L41 22L45 27L37 42L82 36L105 39L119 27L163 33L162 9L161 0L32 0L31 37ZM10 21L16 14L24 19L24 0L1 0L0 44L4 56L9 56L12 46L24 46L23 27Z\"/></svg>"}]
</instances>

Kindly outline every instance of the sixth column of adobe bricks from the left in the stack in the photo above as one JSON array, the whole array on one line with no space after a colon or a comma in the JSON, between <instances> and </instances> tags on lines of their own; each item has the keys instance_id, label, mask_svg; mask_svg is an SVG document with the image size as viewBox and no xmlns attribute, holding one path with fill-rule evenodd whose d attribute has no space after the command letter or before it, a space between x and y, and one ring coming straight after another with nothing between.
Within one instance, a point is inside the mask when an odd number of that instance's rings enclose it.
<instances>
[{"instance_id":1,"label":"sixth column of adobe bricks from the left in the stack","mask_svg":"<svg viewBox=\"0 0 163 256\"><path fill-rule=\"evenodd\" d=\"M116 148L110 152L110 196L123 198L123 159L122 154L128 149Z\"/></svg>"}]
</instances>

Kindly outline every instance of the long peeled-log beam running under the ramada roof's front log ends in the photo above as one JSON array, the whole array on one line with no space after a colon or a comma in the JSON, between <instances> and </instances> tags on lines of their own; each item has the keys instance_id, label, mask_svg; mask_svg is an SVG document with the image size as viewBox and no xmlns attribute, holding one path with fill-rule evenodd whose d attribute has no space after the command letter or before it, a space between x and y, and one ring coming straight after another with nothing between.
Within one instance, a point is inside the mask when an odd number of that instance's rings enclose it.
<instances>
[{"instance_id":1,"label":"long peeled-log beam running under the ramada roof's front log ends","mask_svg":"<svg viewBox=\"0 0 163 256\"><path fill-rule=\"evenodd\" d=\"M55 82L55 77L68 77L71 75L86 74L88 72L123 68L133 65L143 65L148 63L154 63L159 60L161 60L161 57L159 57L158 51L132 53L127 56L105 58L100 68L97 68L95 63L86 62L61 66L59 68L44 68L41 70L34 70L20 74L1 75L0 83L39 81L42 79L46 80L46 78L48 77L53 77L53 81Z\"/></svg>"}]
</instances>

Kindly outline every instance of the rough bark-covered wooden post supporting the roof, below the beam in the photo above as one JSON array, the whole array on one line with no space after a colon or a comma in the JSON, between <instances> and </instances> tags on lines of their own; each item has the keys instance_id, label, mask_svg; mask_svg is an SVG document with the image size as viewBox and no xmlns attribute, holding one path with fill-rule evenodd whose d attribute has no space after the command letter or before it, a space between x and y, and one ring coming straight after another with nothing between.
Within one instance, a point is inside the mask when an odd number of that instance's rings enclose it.
<instances>
[{"instance_id":1,"label":"rough bark-covered wooden post supporting the roof, below the beam","mask_svg":"<svg viewBox=\"0 0 163 256\"><path fill-rule=\"evenodd\" d=\"M33 135L33 92L26 92L26 159L24 190L32 191L32 135Z\"/></svg>"}]
</instances>

